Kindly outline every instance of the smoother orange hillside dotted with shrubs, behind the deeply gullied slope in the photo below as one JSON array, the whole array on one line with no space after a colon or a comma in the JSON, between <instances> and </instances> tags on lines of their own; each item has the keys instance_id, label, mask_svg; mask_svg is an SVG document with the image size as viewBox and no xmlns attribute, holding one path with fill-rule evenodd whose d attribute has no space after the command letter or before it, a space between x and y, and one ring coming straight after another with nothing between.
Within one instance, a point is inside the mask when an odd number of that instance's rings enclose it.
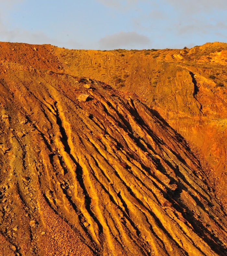
<instances>
[{"instance_id":1,"label":"smoother orange hillside dotted with shrubs, behind the deeply gullied slope","mask_svg":"<svg viewBox=\"0 0 227 256\"><path fill-rule=\"evenodd\" d=\"M54 48L66 73L135 92L195 145L227 202L227 44L191 49L88 51Z\"/></svg>"}]
</instances>

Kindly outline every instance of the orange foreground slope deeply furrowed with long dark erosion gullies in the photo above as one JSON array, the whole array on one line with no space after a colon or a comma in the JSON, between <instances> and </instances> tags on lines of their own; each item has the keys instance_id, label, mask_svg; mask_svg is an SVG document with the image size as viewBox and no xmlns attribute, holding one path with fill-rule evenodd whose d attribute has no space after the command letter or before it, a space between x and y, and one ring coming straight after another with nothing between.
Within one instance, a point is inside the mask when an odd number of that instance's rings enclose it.
<instances>
[{"instance_id":1,"label":"orange foreground slope deeply furrowed with long dark erosion gullies","mask_svg":"<svg viewBox=\"0 0 227 256\"><path fill-rule=\"evenodd\" d=\"M45 61L1 66L3 255L226 255L226 214L184 139L133 93Z\"/></svg>"}]
</instances>

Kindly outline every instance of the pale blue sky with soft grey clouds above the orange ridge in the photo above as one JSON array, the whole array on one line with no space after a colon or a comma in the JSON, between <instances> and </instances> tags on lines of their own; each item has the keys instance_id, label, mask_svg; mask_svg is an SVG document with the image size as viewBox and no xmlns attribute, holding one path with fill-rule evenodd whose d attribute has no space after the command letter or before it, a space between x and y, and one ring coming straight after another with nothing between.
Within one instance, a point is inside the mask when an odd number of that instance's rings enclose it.
<instances>
[{"instance_id":1,"label":"pale blue sky with soft grey clouds above the orange ridge","mask_svg":"<svg viewBox=\"0 0 227 256\"><path fill-rule=\"evenodd\" d=\"M0 41L69 49L227 42L227 0L0 0Z\"/></svg>"}]
</instances>

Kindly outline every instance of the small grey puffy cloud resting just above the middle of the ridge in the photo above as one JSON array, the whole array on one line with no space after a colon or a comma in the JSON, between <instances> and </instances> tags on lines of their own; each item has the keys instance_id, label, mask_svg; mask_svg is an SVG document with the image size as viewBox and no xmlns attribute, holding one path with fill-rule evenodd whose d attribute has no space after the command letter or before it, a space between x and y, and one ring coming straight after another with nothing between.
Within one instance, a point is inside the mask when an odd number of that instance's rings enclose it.
<instances>
[{"instance_id":1,"label":"small grey puffy cloud resting just above the middle of the ridge","mask_svg":"<svg viewBox=\"0 0 227 256\"><path fill-rule=\"evenodd\" d=\"M150 39L136 32L119 32L113 35L107 35L99 40L101 49L116 49L116 48L137 48L148 47Z\"/></svg>"}]
</instances>

